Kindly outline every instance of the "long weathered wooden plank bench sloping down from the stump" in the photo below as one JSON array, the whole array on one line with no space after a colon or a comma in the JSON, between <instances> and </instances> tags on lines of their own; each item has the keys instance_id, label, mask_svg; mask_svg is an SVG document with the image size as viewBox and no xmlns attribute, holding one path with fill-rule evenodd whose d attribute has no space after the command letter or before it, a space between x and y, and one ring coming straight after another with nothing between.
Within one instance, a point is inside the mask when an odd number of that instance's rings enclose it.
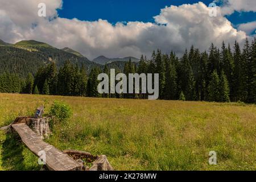
<instances>
[{"instance_id":1,"label":"long weathered wooden plank bench sloping down from the stump","mask_svg":"<svg viewBox=\"0 0 256 182\"><path fill-rule=\"evenodd\" d=\"M46 153L46 166L52 171L77 171L81 170L82 166L64 152L44 142L38 135L34 133L26 125L20 123L11 125L13 129L20 135L20 138L26 146L39 156L40 151ZM39 156L40 157L40 156Z\"/></svg>"}]
</instances>

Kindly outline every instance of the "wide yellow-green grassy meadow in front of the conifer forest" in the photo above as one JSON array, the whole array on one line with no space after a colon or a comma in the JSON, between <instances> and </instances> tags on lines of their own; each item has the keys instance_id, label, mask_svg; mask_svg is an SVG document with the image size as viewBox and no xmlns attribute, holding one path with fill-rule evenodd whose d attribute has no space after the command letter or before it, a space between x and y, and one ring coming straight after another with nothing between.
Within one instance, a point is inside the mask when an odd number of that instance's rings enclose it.
<instances>
[{"instance_id":1,"label":"wide yellow-green grassy meadow in front of the conifer forest","mask_svg":"<svg viewBox=\"0 0 256 182\"><path fill-rule=\"evenodd\" d=\"M0 94L0 127L43 104L47 113L55 100L73 116L47 142L105 154L116 170L256 169L256 105ZM0 131L0 170L38 169L19 137Z\"/></svg>"}]
</instances>

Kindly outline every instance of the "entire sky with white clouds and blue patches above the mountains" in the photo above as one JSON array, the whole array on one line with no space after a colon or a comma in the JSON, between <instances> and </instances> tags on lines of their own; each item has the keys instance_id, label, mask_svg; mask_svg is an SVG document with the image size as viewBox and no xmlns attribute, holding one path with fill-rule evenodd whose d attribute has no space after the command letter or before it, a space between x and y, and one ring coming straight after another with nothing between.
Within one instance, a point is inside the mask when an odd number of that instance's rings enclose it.
<instances>
[{"instance_id":1,"label":"entire sky with white clouds and blue patches above the mountains","mask_svg":"<svg viewBox=\"0 0 256 182\"><path fill-rule=\"evenodd\" d=\"M220 6L217 16L209 15L212 1ZM38 16L42 2L49 18ZM0 12L5 42L38 40L72 48L91 60L100 55L150 57L158 48L181 55L192 45L205 51L223 41L243 45L246 38L254 39L256 28L255 0L0 0Z\"/></svg>"}]
</instances>

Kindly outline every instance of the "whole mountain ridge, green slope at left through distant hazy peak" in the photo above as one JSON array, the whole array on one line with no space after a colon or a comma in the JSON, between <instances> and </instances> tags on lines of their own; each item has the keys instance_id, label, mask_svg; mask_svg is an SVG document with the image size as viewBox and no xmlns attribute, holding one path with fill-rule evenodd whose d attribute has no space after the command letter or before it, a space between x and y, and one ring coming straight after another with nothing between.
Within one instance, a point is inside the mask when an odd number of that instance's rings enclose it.
<instances>
[{"instance_id":1,"label":"whole mountain ridge, green slope at left through distant hazy peak","mask_svg":"<svg viewBox=\"0 0 256 182\"><path fill-rule=\"evenodd\" d=\"M79 67L84 65L89 74L94 67L104 69L105 64L109 68L122 71L126 61L129 61L130 58L133 62L138 63L139 61L135 57L109 59L105 56L98 56L97 58L101 64L90 61L79 52L68 47L59 49L36 40L22 40L15 44L9 44L0 40L0 73L17 73L23 78L28 73L35 75L39 68L52 62L56 63L57 69L63 67L65 61L71 61L72 64Z\"/></svg>"}]
</instances>

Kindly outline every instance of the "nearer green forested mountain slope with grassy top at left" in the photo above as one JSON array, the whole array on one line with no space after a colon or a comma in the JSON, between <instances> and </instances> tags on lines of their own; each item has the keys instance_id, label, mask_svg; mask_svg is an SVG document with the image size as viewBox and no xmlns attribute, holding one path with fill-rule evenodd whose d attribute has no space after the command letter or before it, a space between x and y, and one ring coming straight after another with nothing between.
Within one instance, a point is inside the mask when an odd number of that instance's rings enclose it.
<instances>
[{"instance_id":1,"label":"nearer green forested mountain slope with grassy top at left","mask_svg":"<svg viewBox=\"0 0 256 182\"><path fill-rule=\"evenodd\" d=\"M0 47L0 73L18 73L20 76L26 77L28 73L35 74L38 68L53 61L57 68L60 68L68 60L75 65L84 64L88 72L93 67L99 66L86 57L76 56L35 40L18 42L14 46Z\"/></svg>"}]
</instances>

